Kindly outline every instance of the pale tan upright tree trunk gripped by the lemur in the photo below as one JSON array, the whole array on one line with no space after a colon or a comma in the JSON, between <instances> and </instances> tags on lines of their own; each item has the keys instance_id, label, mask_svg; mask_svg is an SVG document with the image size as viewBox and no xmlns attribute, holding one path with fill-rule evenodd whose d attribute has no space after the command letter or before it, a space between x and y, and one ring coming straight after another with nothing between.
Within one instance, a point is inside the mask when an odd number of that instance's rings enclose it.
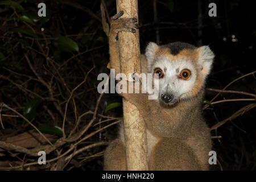
<instances>
[{"instance_id":1,"label":"pale tan upright tree trunk gripped by the lemur","mask_svg":"<svg viewBox=\"0 0 256 182\"><path fill-rule=\"evenodd\" d=\"M117 12L123 10L122 18L138 19L137 0L117 0ZM121 72L141 73L139 31L118 34ZM127 77L128 78L128 77ZM131 79L131 78L129 78ZM145 123L137 108L123 98L123 120L127 170L148 170L147 137Z\"/></svg>"}]
</instances>

